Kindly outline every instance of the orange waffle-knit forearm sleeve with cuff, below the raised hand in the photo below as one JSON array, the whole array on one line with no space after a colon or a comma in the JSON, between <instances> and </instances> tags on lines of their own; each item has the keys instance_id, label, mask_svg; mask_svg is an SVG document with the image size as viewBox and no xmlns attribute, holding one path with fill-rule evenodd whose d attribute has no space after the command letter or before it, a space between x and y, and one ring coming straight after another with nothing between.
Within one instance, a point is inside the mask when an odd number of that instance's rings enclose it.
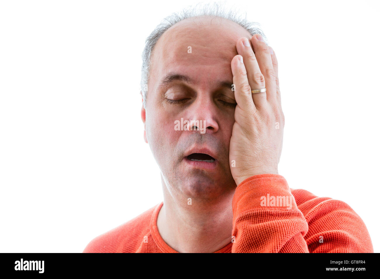
<instances>
[{"instance_id":1,"label":"orange waffle-knit forearm sleeve with cuff, below the raised hand","mask_svg":"<svg viewBox=\"0 0 380 279\"><path fill-rule=\"evenodd\" d=\"M232 252L308 253L308 225L281 175L261 174L240 183L232 200Z\"/></svg>"}]
</instances>

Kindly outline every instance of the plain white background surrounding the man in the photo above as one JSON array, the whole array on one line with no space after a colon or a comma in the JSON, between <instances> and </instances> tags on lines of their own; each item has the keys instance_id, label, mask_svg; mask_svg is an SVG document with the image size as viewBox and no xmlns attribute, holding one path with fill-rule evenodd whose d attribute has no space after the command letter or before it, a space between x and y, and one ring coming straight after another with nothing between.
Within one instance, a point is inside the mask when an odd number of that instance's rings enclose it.
<instances>
[{"instance_id":1,"label":"plain white background surrounding the man","mask_svg":"<svg viewBox=\"0 0 380 279\"><path fill-rule=\"evenodd\" d=\"M0 2L0 252L82 252L163 200L146 37L197 1ZM279 60L290 188L348 203L380 251L377 1L228 1Z\"/></svg>"}]
</instances>

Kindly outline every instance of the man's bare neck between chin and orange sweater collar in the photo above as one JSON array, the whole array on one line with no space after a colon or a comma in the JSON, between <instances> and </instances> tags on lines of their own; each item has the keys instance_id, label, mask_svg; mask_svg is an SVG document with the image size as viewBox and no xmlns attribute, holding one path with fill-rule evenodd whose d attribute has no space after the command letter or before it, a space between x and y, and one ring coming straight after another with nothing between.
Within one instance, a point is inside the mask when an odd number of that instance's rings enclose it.
<instances>
[{"instance_id":1,"label":"man's bare neck between chin and orange sweater collar","mask_svg":"<svg viewBox=\"0 0 380 279\"><path fill-rule=\"evenodd\" d=\"M161 238L180 253L211 253L231 243L232 197L234 191L217 200L174 197L161 176L164 204L157 218ZM179 202L181 201L181 202Z\"/></svg>"}]
</instances>

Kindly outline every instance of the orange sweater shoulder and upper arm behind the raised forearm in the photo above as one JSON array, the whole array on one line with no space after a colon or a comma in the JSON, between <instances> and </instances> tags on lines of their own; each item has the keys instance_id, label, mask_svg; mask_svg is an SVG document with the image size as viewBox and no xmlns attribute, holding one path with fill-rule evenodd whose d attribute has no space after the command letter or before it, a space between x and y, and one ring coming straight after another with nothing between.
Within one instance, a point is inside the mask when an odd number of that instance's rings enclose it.
<instances>
[{"instance_id":1,"label":"orange sweater shoulder and upper arm behind the raised forearm","mask_svg":"<svg viewBox=\"0 0 380 279\"><path fill-rule=\"evenodd\" d=\"M290 190L309 227L304 238L310 252L373 253L363 219L346 202Z\"/></svg>"}]
</instances>

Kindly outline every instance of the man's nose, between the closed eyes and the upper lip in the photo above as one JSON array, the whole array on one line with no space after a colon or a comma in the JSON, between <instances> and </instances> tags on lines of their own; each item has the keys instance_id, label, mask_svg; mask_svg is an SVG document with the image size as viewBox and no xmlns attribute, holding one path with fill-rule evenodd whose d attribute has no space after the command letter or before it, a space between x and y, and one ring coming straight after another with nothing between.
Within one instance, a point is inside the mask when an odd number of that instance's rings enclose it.
<instances>
[{"instance_id":1,"label":"man's nose, between the closed eyes and the upper lip","mask_svg":"<svg viewBox=\"0 0 380 279\"><path fill-rule=\"evenodd\" d=\"M202 97L199 95L200 94L198 94L196 100L191 104L191 106L188 107L187 119L193 120L188 124L188 131L205 130L203 134L213 134L219 129L219 125L216 120L217 110L215 104L207 95Z\"/></svg>"}]
</instances>

